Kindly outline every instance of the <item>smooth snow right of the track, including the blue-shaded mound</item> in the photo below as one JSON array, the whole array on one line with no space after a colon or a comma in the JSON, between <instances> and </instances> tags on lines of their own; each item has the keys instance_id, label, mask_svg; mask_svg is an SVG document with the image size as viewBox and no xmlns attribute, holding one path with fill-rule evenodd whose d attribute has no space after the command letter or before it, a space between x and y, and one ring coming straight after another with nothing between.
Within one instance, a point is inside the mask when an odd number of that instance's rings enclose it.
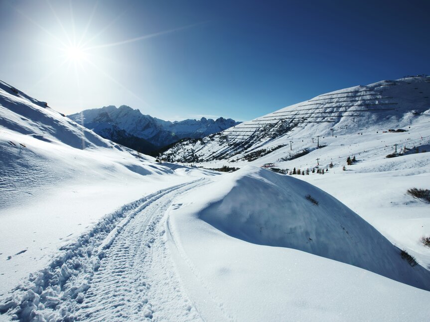
<instances>
[{"instance_id":1,"label":"smooth snow right of the track, including the blue-shaded mound","mask_svg":"<svg viewBox=\"0 0 430 322\"><path fill-rule=\"evenodd\" d=\"M370 224L302 181L245 168L175 203L170 248L205 321L430 317L429 292L382 276L429 290L430 272L411 267Z\"/></svg>"}]
</instances>

